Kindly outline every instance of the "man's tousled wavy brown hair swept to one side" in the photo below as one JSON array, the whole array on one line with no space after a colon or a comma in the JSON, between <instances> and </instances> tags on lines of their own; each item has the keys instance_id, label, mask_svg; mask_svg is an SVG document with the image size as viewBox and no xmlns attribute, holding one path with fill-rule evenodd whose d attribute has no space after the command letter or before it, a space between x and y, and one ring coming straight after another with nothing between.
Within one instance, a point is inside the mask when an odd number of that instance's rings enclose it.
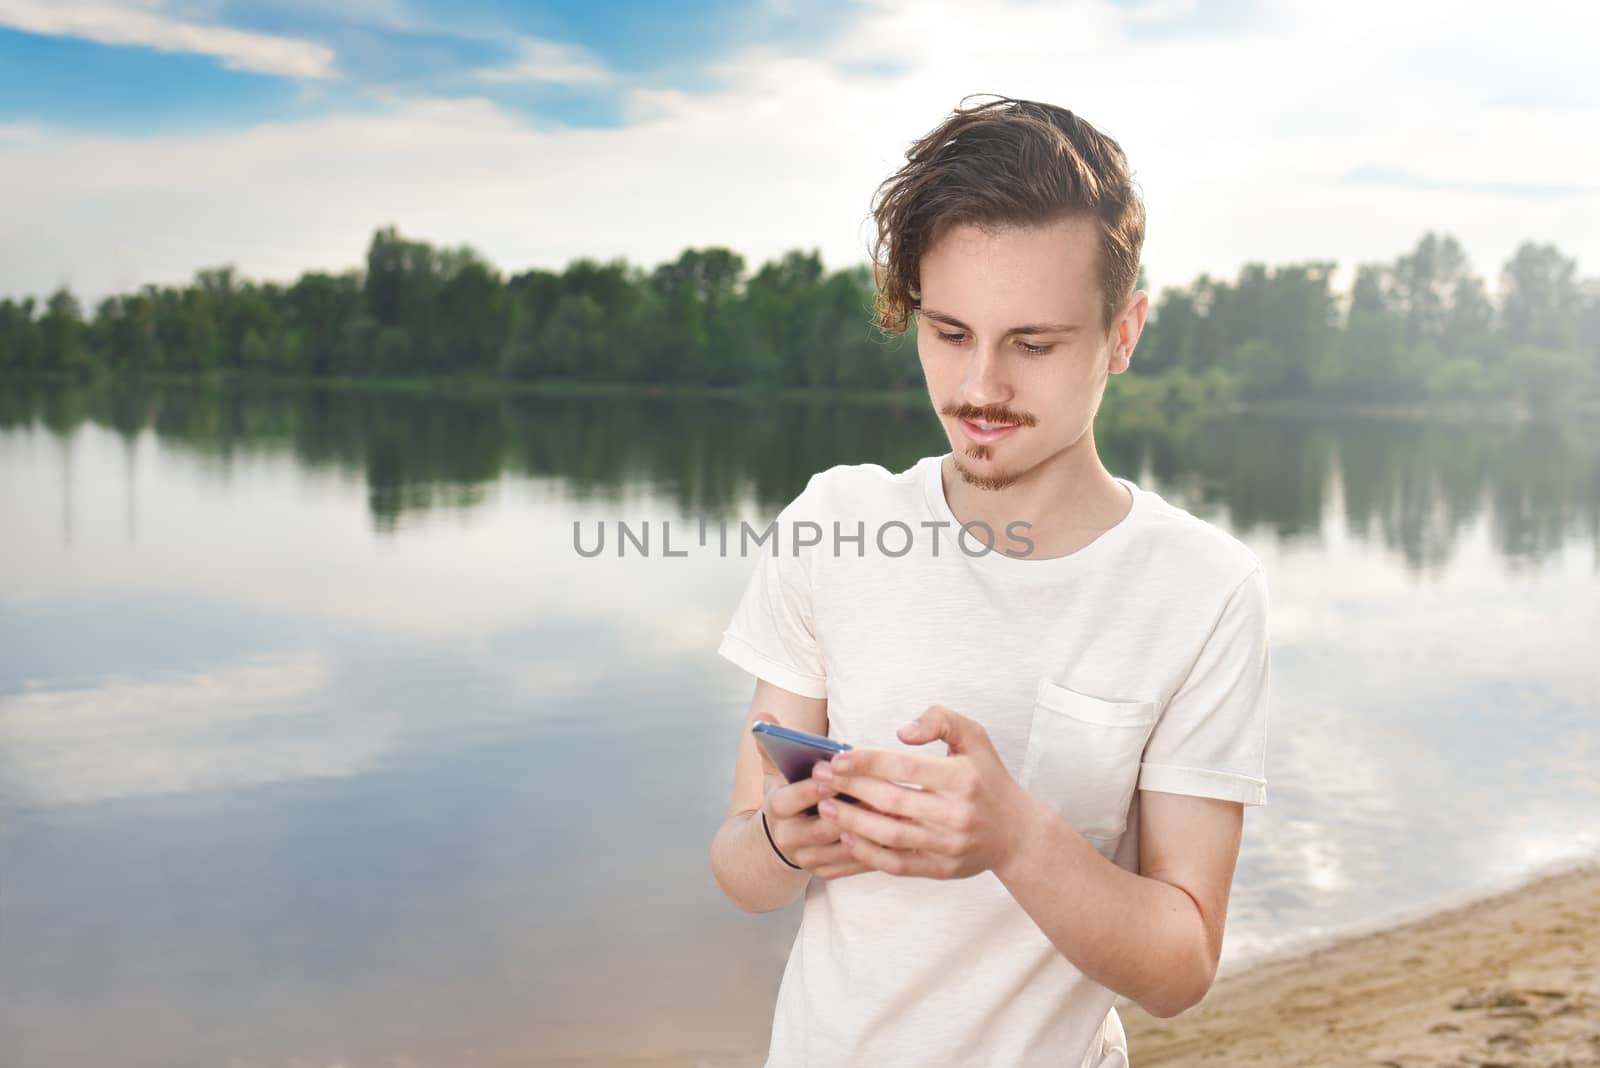
<instances>
[{"instance_id":1,"label":"man's tousled wavy brown hair swept to one side","mask_svg":"<svg viewBox=\"0 0 1600 1068\"><path fill-rule=\"evenodd\" d=\"M1035 227L1082 214L1099 222L1102 328L1110 329L1138 283L1144 246L1144 201L1122 145L1054 104L1003 96L957 107L912 144L872 198L878 328L901 333L922 309L922 254L952 225Z\"/></svg>"}]
</instances>

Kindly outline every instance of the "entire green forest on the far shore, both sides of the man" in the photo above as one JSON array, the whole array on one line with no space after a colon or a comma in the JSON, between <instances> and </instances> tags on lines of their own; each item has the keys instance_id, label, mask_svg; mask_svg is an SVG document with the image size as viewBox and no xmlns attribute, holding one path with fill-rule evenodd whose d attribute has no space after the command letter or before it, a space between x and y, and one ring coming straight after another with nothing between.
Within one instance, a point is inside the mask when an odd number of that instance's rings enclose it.
<instances>
[{"instance_id":1,"label":"entire green forest on the far shore, both sides of the man","mask_svg":"<svg viewBox=\"0 0 1600 1068\"><path fill-rule=\"evenodd\" d=\"M1522 245L1493 294L1448 235L1360 265L1349 293L1333 270L1250 264L1162 289L1133 374L1168 400L1600 406L1600 278L1554 245ZM870 305L870 267L829 273L816 251L749 277L738 253L704 248L650 272L579 259L507 278L384 227L363 267L293 285L211 267L93 315L66 288L0 301L0 373L920 389L914 334L878 333Z\"/></svg>"}]
</instances>

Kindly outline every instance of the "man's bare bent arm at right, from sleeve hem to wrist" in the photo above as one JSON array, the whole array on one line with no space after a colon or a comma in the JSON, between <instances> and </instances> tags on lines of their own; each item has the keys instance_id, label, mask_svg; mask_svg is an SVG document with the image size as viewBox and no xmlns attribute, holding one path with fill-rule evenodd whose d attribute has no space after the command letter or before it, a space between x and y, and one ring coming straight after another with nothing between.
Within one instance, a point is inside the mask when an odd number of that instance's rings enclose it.
<instances>
[{"instance_id":1,"label":"man's bare bent arm at right, from sleeve hem to wrist","mask_svg":"<svg viewBox=\"0 0 1600 1068\"><path fill-rule=\"evenodd\" d=\"M995 876L1072 964L1155 1017L1216 978L1243 804L1139 793L1139 873L1118 868L1034 795L1029 830Z\"/></svg>"}]
</instances>

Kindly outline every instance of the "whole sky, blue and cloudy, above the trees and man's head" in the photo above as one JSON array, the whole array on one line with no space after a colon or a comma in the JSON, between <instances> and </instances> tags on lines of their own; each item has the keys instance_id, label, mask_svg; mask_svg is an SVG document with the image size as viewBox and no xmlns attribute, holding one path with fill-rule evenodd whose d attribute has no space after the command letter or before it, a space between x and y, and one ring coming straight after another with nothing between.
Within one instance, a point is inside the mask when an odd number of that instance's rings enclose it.
<instances>
[{"instance_id":1,"label":"whole sky, blue and cloudy, above the trees and man's head","mask_svg":"<svg viewBox=\"0 0 1600 1068\"><path fill-rule=\"evenodd\" d=\"M963 98L1126 150L1152 289L1525 240L1600 275L1600 8L1346 0L0 0L0 296L86 302L373 230L502 272L723 246L867 262ZM971 99L968 102L976 102Z\"/></svg>"}]
</instances>

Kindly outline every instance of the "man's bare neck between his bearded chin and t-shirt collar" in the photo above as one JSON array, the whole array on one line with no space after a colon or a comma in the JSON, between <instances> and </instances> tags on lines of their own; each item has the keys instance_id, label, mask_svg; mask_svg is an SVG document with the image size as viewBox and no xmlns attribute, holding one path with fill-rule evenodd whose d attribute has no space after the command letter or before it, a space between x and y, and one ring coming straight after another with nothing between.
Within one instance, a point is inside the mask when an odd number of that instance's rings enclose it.
<instances>
[{"instance_id":1,"label":"man's bare neck between his bearded chin and t-shirt collar","mask_svg":"<svg viewBox=\"0 0 1600 1068\"><path fill-rule=\"evenodd\" d=\"M954 467L941 465L944 499L960 523L987 523L995 545L1016 552L1008 523L1029 523L1018 536L1034 542L1030 560L1074 553L1117 526L1133 507L1128 489L1101 464L1093 433L1024 472L1003 489L968 483Z\"/></svg>"}]
</instances>

